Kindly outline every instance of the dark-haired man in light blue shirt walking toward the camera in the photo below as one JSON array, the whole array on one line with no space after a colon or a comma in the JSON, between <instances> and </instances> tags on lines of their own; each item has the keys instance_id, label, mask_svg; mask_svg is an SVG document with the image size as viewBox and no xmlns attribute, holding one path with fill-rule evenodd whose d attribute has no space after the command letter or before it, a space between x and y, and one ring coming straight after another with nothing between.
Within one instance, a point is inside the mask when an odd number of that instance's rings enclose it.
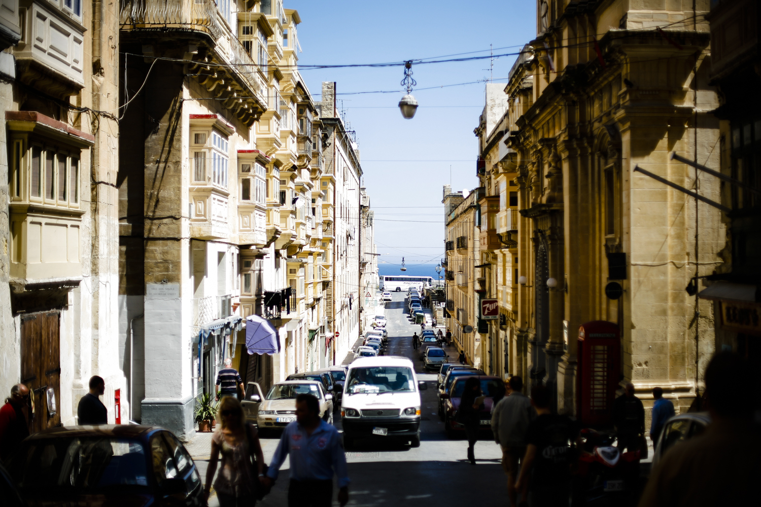
<instances>
[{"instance_id":1,"label":"dark-haired man in light blue shirt walking toward the camera","mask_svg":"<svg viewBox=\"0 0 761 507\"><path fill-rule=\"evenodd\" d=\"M269 464L266 484L278 478L280 466L289 458L291 483L288 507L330 507L333 475L338 477L338 501L349 502L349 474L341 435L335 426L320 419L320 404L313 395L296 397L296 420L285 426Z\"/></svg>"}]
</instances>

